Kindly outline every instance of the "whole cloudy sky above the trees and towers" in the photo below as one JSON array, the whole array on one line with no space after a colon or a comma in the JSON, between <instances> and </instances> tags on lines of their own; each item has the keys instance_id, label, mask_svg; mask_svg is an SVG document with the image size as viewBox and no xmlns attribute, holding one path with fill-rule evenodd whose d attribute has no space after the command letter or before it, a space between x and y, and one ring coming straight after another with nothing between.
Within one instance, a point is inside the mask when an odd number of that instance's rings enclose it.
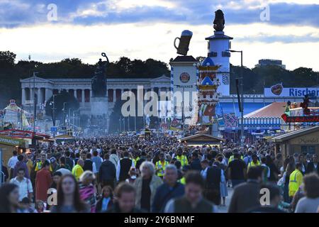
<instances>
[{"instance_id":1,"label":"whole cloudy sky above the trees and towers","mask_svg":"<svg viewBox=\"0 0 319 227\"><path fill-rule=\"evenodd\" d=\"M206 56L217 9L247 67L273 58L289 70L319 71L318 0L0 0L0 50L42 62L79 57L94 63L101 52L111 61L169 62L177 56L174 38L188 29L194 33L189 54ZM239 65L240 56L231 62Z\"/></svg>"}]
</instances>

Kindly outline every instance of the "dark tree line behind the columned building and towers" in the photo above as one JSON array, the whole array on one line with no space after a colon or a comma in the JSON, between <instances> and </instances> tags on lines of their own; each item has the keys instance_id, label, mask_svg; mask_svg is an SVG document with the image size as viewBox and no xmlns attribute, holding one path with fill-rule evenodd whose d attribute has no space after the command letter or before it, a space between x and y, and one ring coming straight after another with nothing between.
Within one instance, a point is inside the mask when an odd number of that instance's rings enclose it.
<instances>
[{"instance_id":1,"label":"dark tree line behind the columned building and towers","mask_svg":"<svg viewBox=\"0 0 319 227\"><path fill-rule=\"evenodd\" d=\"M197 57L198 60L203 57ZM79 58L67 58L60 62L43 63L33 60L16 60L11 51L0 51L0 106L4 108L9 99L21 103L20 79L31 77L38 72L43 78L91 78L96 64L86 64ZM240 77L241 68L230 65L230 93L235 94L235 79ZM108 78L155 78L162 74L169 76L169 65L159 60L130 60L120 57L110 62L107 69ZM318 84L319 72L310 68L298 67L296 70L285 70L281 67L254 67L243 69L245 94L263 94L264 86L271 87L282 83L284 87L313 87Z\"/></svg>"}]
</instances>

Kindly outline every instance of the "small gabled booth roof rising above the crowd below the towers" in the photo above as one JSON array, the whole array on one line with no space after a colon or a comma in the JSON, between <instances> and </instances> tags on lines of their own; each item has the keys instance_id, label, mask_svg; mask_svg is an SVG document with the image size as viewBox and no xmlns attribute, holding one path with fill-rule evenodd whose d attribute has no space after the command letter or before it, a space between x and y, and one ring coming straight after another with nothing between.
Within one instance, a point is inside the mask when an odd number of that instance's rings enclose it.
<instances>
[{"instance_id":1,"label":"small gabled booth roof rising above the crowd below the towers","mask_svg":"<svg viewBox=\"0 0 319 227\"><path fill-rule=\"evenodd\" d=\"M209 145L220 145L221 142L225 140L223 138L219 138L213 135L209 135L206 133L197 133L195 135L189 135L184 138L179 139L180 142L186 142L187 145L191 146L201 146L205 144Z\"/></svg>"}]
</instances>

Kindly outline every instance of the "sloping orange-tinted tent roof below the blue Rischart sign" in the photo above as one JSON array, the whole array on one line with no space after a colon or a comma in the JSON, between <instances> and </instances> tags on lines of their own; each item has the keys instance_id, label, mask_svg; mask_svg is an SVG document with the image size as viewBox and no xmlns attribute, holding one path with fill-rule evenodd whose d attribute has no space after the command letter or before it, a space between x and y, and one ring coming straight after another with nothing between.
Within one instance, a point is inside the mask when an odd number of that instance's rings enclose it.
<instances>
[{"instance_id":1,"label":"sloping orange-tinted tent roof below the blue Rischart sign","mask_svg":"<svg viewBox=\"0 0 319 227\"><path fill-rule=\"evenodd\" d=\"M281 118L286 109L286 102L273 102L267 106L257 109L250 114L246 114L244 118Z\"/></svg>"}]
</instances>

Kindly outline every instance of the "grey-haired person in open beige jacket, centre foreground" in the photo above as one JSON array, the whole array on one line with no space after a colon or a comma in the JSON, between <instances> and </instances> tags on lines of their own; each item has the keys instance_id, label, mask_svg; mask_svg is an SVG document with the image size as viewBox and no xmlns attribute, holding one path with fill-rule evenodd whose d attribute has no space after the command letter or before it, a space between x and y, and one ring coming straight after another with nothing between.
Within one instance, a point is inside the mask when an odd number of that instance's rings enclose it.
<instances>
[{"instance_id":1,"label":"grey-haired person in open beige jacket, centre foreground","mask_svg":"<svg viewBox=\"0 0 319 227\"><path fill-rule=\"evenodd\" d=\"M162 179L155 175L155 165L152 162L142 162L140 173L141 176L134 182L136 189L135 204L138 209L150 211L156 190L162 184Z\"/></svg>"}]
</instances>

